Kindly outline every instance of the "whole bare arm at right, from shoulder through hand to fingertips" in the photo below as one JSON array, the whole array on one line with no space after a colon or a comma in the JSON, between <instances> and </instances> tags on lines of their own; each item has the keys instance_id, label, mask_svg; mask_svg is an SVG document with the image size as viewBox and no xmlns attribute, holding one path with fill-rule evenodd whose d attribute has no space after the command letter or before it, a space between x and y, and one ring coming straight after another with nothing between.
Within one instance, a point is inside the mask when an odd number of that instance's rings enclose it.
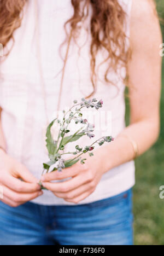
<instances>
[{"instance_id":1,"label":"whole bare arm at right, from shoulder through hand to fingertips","mask_svg":"<svg viewBox=\"0 0 164 256\"><path fill-rule=\"evenodd\" d=\"M134 158L131 138L138 145L139 153L148 150L159 136L161 57L159 46L161 32L153 2L133 1L131 19L132 59L128 63L131 107L131 125L111 144L99 148L84 166L77 164L62 173L43 177L44 187L66 201L78 203L97 187L103 173ZM62 183L49 181L73 177Z\"/></svg>"}]
</instances>

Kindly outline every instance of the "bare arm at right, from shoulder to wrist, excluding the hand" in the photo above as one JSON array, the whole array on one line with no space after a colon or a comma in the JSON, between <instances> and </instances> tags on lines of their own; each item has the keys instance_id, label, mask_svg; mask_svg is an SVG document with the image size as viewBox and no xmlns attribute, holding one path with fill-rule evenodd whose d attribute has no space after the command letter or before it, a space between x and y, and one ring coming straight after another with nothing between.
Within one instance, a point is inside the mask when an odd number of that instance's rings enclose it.
<instances>
[{"instance_id":1,"label":"bare arm at right, from shoulder to wrist, excluding the hand","mask_svg":"<svg viewBox=\"0 0 164 256\"><path fill-rule=\"evenodd\" d=\"M159 20L151 1L133 1L131 19L132 59L128 65L130 78L131 125L122 134L132 138L143 154L157 140L160 129L160 92L162 42ZM134 158L132 143L119 136L109 145L110 168ZM109 168L107 166L105 169ZM109 170L109 169L108 169Z\"/></svg>"}]
</instances>

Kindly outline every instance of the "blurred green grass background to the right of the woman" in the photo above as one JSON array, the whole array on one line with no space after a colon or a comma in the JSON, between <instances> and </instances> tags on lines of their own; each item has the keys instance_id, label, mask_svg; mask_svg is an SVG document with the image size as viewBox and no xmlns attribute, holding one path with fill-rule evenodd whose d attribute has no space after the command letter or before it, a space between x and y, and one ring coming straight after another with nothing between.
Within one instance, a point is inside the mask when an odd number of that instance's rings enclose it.
<instances>
[{"instance_id":1,"label":"blurred green grass background to the right of the woman","mask_svg":"<svg viewBox=\"0 0 164 256\"><path fill-rule=\"evenodd\" d=\"M164 1L157 0L157 10L164 19ZM151 26L151 24L150 24ZM164 42L164 26L161 26ZM129 116L127 102L127 120ZM164 61L162 67L161 133L153 148L136 161L134 187L135 245L164 245L164 200L159 188L164 185Z\"/></svg>"}]
</instances>

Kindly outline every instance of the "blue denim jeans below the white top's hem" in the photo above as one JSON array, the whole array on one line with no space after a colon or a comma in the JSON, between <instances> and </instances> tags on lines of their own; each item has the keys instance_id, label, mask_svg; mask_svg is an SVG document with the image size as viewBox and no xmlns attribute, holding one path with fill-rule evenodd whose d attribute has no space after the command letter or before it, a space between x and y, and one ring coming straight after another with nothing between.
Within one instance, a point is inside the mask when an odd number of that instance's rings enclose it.
<instances>
[{"instance_id":1,"label":"blue denim jeans below the white top's hem","mask_svg":"<svg viewBox=\"0 0 164 256\"><path fill-rule=\"evenodd\" d=\"M133 245L132 191L77 206L0 202L0 245Z\"/></svg>"}]
</instances>

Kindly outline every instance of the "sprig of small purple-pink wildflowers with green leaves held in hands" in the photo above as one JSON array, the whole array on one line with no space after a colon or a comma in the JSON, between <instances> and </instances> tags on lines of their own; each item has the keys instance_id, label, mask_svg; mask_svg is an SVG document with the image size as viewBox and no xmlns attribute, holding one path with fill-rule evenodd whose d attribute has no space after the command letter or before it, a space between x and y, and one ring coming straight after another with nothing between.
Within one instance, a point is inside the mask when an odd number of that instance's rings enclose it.
<instances>
[{"instance_id":1,"label":"sprig of small purple-pink wildflowers with green leaves held in hands","mask_svg":"<svg viewBox=\"0 0 164 256\"><path fill-rule=\"evenodd\" d=\"M63 119L55 119L59 131L57 139L53 138L51 133L51 127L55 123L55 120L52 121L46 131L46 147L48 149L50 159L50 162L48 163L49 165L44 164L46 171L49 171L48 168L50 168L50 166L56 164L54 171L58 170L58 172L61 172L63 168L71 167L81 159L81 164L85 164L86 159L81 158L81 155L88 153L90 156L93 156L92 150L95 148L96 143L99 146L102 146L105 142L114 141L112 136L106 136L96 140L91 144L91 146L86 146L84 149L77 145L75 146L74 152L65 152L67 149L66 146L69 142L71 143L78 141L78 139L83 136L88 136L89 138L95 137L93 134L95 125L90 124L87 119L83 118L81 109L95 108L98 110L99 108L103 107L103 104L103 100L97 101L96 98L93 98L92 100L86 100L85 98L82 98L81 102L74 100L74 105L68 112L63 110ZM81 129L79 129L77 132L74 132L74 134L67 136L67 133L69 133L71 130L69 129L69 124L71 124L71 121L75 121L75 124L81 124ZM62 153L61 150L63 151ZM62 159L62 156L65 154L72 154L74 157L71 160L64 160Z\"/></svg>"}]
</instances>

